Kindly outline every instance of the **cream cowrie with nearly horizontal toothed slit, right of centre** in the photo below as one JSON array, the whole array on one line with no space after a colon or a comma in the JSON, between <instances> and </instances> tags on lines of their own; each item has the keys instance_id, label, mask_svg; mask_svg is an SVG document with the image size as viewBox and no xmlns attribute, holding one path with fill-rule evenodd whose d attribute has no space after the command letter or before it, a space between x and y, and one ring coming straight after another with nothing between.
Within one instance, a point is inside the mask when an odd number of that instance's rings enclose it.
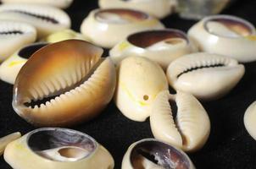
<instances>
[{"instance_id":1,"label":"cream cowrie with nearly horizontal toothed slit, right of centre","mask_svg":"<svg viewBox=\"0 0 256 169\"><path fill-rule=\"evenodd\" d=\"M167 79L175 90L202 100L214 100L228 93L242 79L244 66L231 57L193 53L177 58L167 68Z\"/></svg>"}]
</instances>

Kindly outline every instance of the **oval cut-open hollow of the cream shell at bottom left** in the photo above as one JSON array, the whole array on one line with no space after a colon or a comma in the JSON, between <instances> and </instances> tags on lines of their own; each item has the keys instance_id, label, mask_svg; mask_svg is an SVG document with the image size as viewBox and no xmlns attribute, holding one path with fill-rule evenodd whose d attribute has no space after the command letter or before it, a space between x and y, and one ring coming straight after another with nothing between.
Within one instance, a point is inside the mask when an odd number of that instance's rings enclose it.
<instances>
[{"instance_id":1,"label":"oval cut-open hollow of the cream shell at bottom left","mask_svg":"<svg viewBox=\"0 0 256 169\"><path fill-rule=\"evenodd\" d=\"M66 128L40 128L27 137L37 155L51 161L79 161L92 155L97 143L92 137Z\"/></svg>"}]
</instances>

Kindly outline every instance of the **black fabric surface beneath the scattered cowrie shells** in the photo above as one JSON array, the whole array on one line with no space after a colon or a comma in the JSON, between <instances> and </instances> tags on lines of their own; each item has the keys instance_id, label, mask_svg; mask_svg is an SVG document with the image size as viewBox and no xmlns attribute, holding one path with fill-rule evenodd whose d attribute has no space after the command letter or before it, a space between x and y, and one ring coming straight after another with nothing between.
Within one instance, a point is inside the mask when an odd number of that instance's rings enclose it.
<instances>
[{"instance_id":1,"label":"black fabric surface beneath the scattered cowrie shells","mask_svg":"<svg viewBox=\"0 0 256 169\"><path fill-rule=\"evenodd\" d=\"M97 8L97 0L75 0L67 9L72 19L72 28L79 30L81 21L93 8ZM256 1L237 1L225 9L223 14L237 15L256 25ZM168 28L186 31L196 21L180 19L174 14L163 19L163 22ZM198 169L256 168L256 141L249 136L243 124L243 114L255 100L256 63L247 63L245 67L244 77L231 93L218 101L203 102L209 113L211 134L202 150L189 154ZM16 131L26 134L35 129L14 112L11 106L12 90L12 85L0 81L0 136ZM113 101L99 117L73 129L89 134L103 144L114 156L116 169L120 169L123 155L130 144L153 137L148 120L136 123L125 118ZM1 157L0 169L6 168L11 167Z\"/></svg>"}]
</instances>

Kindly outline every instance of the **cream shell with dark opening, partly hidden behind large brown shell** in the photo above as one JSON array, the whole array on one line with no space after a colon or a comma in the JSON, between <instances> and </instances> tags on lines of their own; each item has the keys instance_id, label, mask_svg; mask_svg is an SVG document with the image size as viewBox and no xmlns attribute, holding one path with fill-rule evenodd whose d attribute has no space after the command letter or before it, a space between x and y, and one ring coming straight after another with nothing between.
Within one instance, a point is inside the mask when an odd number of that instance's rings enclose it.
<instances>
[{"instance_id":1,"label":"cream shell with dark opening, partly hidden behind large brown shell","mask_svg":"<svg viewBox=\"0 0 256 169\"><path fill-rule=\"evenodd\" d=\"M34 52L46 45L47 43L33 43L14 52L12 56L8 57L8 59L0 65L0 79L14 85L20 68L23 67Z\"/></svg>"}]
</instances>

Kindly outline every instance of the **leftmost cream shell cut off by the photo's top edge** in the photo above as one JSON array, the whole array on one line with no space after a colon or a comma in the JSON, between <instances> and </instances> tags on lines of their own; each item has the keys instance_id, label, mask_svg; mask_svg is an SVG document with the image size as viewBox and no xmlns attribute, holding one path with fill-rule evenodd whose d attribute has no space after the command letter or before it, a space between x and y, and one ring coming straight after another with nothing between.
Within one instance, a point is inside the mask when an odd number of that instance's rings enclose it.
<instances>
[{"instance_id":1,"label":"leftmost cream shell cut off by the photo's top edge","mask_svg":"<svg viewBox=\"0 0 256 169\"><path fill-rule=\"evenodd\" d=\"M68 8L70 7L73 0L2 0L2 3L31 3L38 5L49 5L57 8Z\"/></svg>"}]
</instances>

